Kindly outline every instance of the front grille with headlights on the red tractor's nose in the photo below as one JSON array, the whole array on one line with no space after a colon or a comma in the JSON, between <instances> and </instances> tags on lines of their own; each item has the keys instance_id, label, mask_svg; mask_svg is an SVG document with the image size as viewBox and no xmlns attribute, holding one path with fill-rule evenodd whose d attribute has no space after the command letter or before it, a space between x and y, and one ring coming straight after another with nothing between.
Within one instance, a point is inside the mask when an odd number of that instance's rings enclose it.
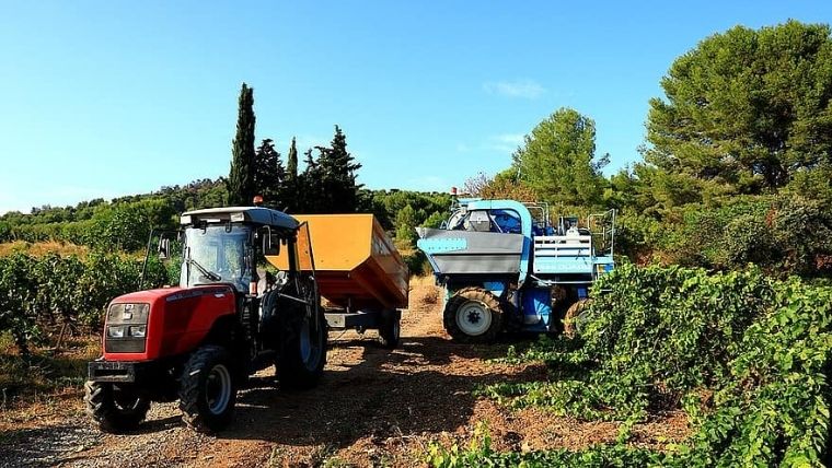
<instances>
[{"instance_id":1,"label":"front grille with headlights on the red tractor's nose","mask_svg":"<svg viewBox=\"0 0 832 468\"><path fill-rule=\"evenodd\" d=\"M145 352L150 304L112 304L104 327L105 352Z\"/></svg>"}]
</instances>

